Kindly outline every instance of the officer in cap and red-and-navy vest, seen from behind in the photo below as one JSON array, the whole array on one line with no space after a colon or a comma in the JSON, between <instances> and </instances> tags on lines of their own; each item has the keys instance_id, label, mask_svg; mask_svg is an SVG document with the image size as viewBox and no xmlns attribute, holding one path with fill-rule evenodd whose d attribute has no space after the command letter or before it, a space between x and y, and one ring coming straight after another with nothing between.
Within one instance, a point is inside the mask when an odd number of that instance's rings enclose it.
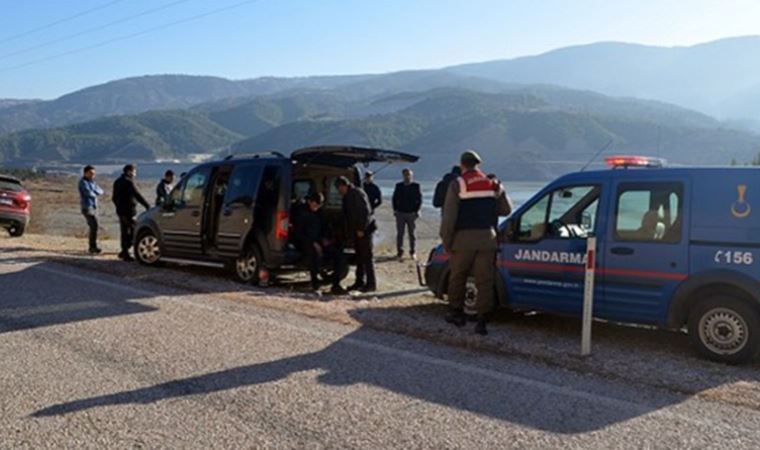
<instances>
[{"instance_id":1,"label":"officer in cap and red-and-navy vest, seen from behind","mask_svg":"<svg viewBox=\"0 0 760 450\"><path fill-rule=\"evenodd\" d=\"M462 153L462 175L449 185L441 218L441 239L449 259L448 298L450 312L446 322L464 326L464 300L467 278L472 274L478 290L475 332L487 334L486 314L493 306L496 226L499 216L512 211L504 187L480 170L481 158L472 151Z\"/></svg>"}]
</instances>

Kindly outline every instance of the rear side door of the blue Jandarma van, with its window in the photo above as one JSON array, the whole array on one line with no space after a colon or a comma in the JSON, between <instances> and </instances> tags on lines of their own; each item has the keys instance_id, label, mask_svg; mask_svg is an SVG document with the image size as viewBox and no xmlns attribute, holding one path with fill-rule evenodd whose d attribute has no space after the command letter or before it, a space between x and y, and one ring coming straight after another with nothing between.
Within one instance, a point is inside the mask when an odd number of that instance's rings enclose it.
<instances>
[{"instance_id":1,"label":"rear side door of the blue Jandarma van, with its window","mask_svg":"<svg viewBox=\"0 0 760 450\"><path fill-rule=\"evenodd\" d=\"M604 293L595 315L623 322L664 323L678 285L689 273L690 183L686 177L613 182Z\"/></svg>"}]
</instances>

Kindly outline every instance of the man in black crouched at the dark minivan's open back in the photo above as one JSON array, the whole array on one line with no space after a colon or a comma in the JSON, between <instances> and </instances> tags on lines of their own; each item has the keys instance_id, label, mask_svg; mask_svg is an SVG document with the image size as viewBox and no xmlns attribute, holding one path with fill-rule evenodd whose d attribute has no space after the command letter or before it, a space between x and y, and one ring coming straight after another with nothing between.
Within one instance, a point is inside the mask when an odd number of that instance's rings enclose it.
<instances>
[{"instance_id":1,"label":"man in black crouched at the dark minivan's open back","mask_svg":"<svg viewBox=\"0 0 760 450\"><path fill-rule=\"evenodd\" d=\"M296 246L304 253L311 276L312 290L321 295L319 290L319 273L326 262L332 262L333 295L346 293L340 285L340 275L343 272L343 251L335 244L330 233L329 225L322 214L325 197L320 193L312 193L306 197L305 204L294 211L293 228L296 234Z\"/></svg>"}]
</instances>

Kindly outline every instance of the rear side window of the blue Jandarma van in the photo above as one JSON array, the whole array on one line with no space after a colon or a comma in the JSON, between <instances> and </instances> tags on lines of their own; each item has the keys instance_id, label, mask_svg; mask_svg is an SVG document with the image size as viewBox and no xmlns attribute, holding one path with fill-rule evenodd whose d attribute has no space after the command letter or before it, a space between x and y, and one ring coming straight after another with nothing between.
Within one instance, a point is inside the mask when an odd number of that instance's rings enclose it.
<instances>
[{"instance_id":1,"label":"rear side window of the blue Jandarma van","mask_svg":"<svg viewBox=\"0 0 760 450\"><path fill-rule=\"evenodd\" d=\"M677 183L621 185L615 214L615 239L679 242L683 187Z\"/></svg>"}]
</instances>

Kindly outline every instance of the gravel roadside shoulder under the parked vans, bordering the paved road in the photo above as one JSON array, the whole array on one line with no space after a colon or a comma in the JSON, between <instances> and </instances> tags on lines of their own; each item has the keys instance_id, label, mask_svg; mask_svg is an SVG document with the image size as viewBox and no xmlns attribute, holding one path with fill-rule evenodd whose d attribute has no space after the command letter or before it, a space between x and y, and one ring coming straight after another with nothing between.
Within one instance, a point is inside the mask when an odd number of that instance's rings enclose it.
<instances>
[{"instance_id":1,"label":"gravel roadside shoulder under the parked vans, bordering the paved road","mask_svg":"<svg viewBox=\"0 0 760 450\"><path fill-rule=\"evenodd\" d=\"M580 322L574 318L503 311L495 316L490 334L482 338L472 334L470 327L458 330L447 326L442 320L445 305L416 287L411 274L403 283L381 283L378 295L324 297L320 301L308 292L304 278L285 278L277 286L260 289L235 283L221 270L171 265L146 268L116 260L115 252L98 258L83 256L73 250L81 248L82 243L73 238L29 235L20 240L0 239L0 251L12 251L14 258L22 262L56 261L127 281L213 294L242 304L361 324L578 373L594 373L610 380L760 408L760 363L733 367L703 360L691 350L683 333L596 322L593 355L582 358L578 356ZM409 262L379 264L406 264L413 271Z\"/></svg>"}]
</instances>

